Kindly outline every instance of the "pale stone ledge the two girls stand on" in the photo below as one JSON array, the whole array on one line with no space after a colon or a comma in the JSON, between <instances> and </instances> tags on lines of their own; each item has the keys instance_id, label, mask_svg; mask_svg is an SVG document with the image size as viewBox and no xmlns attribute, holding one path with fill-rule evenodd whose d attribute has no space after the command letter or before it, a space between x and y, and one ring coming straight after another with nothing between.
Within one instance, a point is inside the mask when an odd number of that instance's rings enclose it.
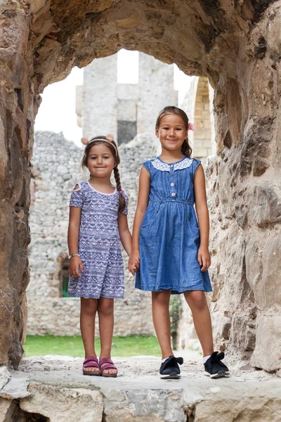
<instances>
[{"instance_id":1,"label":"pale stone ledge the two girls stand on","mask_svg":"<svg viewBox=\"0 0 281 422\"><path fill-rule=\"evenodd\" d=\"M22 411L43 415L39 420L48 422L281 420L281 381L265 371L231 369L230 378L211 380L203 375L201 363L189 361L181 367L181 379L168 381L157 374L159 358L115 362L119 376L103 378L83 376L80 358L23 359L0 390L5 398L0 399L0 422L18 422L1 411L15 402L8 397L18 398Z\"/></svg>"}]
</instances>

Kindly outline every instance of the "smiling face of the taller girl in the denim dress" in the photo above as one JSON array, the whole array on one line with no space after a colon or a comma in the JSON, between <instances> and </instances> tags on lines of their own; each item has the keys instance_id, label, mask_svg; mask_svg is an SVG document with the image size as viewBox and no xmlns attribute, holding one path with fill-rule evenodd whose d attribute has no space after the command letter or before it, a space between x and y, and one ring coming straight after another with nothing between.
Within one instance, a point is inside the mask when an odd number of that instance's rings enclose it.
<instances>
[{"instance_id":1,"label":"smiling face of the taller girl in the denim dress","mask_svg":"<svg viewBox=\"0 0 281 422\"><path fill-rule=\"evenodd\" d=\"M159 138L162 148L168 151L181 151L183 141L188 137L188 129L185 129L181 116L168 114L160 120L155 134Z\"/></svg>"}]
</instances>

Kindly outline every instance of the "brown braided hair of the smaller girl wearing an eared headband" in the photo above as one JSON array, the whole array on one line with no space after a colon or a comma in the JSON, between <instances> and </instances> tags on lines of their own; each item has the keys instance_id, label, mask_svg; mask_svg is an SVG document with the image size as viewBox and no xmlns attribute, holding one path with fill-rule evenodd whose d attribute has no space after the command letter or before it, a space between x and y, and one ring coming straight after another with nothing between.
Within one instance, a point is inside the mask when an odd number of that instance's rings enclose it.
<instances>
[{"instance_id":1,"label":"brown braided hair of the smaller girl wearing an eared headband","mask_svg":"<svg viewBox=\"0 0 281 422\"><path fill-rule=\"evenodd\" d=\"M96 139L96 141L95 141L95 139ZM105 141L102 141L101 139L105 139ZM115 160L115 166L116 167L114 167L113 172L114 172L114 175L115 175L115 182L116 182L117 191L119 192L118 213L120 214L121 212L124 211L124 209L126 207L126 200L125 200L124 194L122 192L119 170L117 168L117 165L120 164L120 157L119 157L119 154L118 154L117 145L116 145L115 141L110 141L110 142L107 141L106 136L95 136L94 138L90 139L89 143L85 147L84 155L83 155L83 158L82 158L82 161L81 161L81 166L82 166L83 169L88 168L89 152L90 152L92 146L98 145L99 143L104 143L104 145L107 146L107 148L110 149L110 151L113 155L113 158Z\"/></svg>"}]
</instances>

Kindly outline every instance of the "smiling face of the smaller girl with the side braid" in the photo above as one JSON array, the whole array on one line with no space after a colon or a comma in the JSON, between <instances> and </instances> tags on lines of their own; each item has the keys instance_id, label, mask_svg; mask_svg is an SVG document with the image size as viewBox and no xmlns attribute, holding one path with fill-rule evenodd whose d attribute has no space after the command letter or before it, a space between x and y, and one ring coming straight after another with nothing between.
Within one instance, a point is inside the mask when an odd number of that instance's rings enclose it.
<instances>
[{"instance_id":1,"label":"smiling face of the smaller girl with the side braid","mask_svg":"<svg viewBox=\"0 0 281 422\"><path fill-rule=\"evenodd\" d=\"M88 169L93 177L110 177L115 167L115 158L104 143L93 145L88 155Z\"/></svg>"}]
</instances>

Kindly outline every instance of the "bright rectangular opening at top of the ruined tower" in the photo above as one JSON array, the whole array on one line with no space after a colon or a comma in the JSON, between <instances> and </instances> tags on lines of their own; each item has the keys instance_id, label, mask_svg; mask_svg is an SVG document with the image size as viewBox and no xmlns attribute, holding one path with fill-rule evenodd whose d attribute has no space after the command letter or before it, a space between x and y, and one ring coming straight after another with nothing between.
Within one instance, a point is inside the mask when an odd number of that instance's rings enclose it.
<instances>
[{"instance_id":1,"label":"bright rectangular opening at top of the ruined tower","mask_svg":"<svg viewBox=\"0 0 281 422\"><path fill-rule=\"evenodd\" d=\"M117 84L138 84L138 51L117 53Z\"/></svg>"}]
</instances>

